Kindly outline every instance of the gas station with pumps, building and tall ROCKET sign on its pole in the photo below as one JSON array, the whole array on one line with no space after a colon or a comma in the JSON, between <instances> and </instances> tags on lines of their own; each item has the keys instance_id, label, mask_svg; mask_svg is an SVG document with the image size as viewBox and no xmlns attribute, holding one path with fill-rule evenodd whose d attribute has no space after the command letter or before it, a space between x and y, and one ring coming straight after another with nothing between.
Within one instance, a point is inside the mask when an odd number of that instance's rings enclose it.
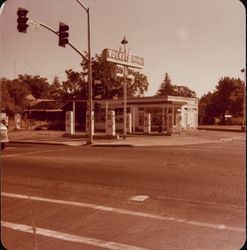
<instances>
[{"instance_id":1,"label":"gas station with pumps, building and tall ROCKET sign on its pole","mask_svg":"<svg viewBox=\"0 0 247 250\"><path fill-rule=\"evenodd\" d=\"M123 97L113 99L92 100L92 114L89 110L84 112L81 119L85 122L85 132L95 134L96 131L105 133L106 136L122 134L126 139L127 134L159 133L173 134L198 127L198 99L179 96L149 96L127 97L127 78L133 77L132 68L142 69L142 57L126 53L127 40L121 42L124 52L104 49L102 52L106 61L117 65L117 76L123 78ZM87 100L72 100L73 110L66 113L66 133L74 134L76 126L76 103ZM97 106L97 108L96 108ZM77 111L78 112L78 111ZM77 114L78 116L78 114ZM91 119L91 120L90 120Z\"/></svg>"}]
</instances>

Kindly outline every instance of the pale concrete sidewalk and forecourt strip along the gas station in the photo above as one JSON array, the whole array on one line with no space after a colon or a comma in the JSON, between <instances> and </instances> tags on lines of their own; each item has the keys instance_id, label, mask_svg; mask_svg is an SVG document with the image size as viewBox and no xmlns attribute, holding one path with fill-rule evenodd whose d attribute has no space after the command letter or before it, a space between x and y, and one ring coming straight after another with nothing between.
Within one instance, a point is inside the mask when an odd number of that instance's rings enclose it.
<instances>
[{"instance_id":1,"label":"pale concrete sidewalk and forecourt strip along the gas station","mask_svg":"<svg viewBox=\"0 0 247 250\"><path fill-rule=\"evenodd\" d=\"M93 145L101 147L124 147L124 146L179 146L190 144L202 144L211 142L222 142L226 140L245 139L245 133L236 133L228 131L207 131L196 130L165 136L159 134L150 135L128 135L124 140L121 136L119 139L106 139L103 134L95 134ZM51 145L69 145L82 146L87 145L87 136L85 133L76 133L75 135L65 135L64 131L10 131L10 143L34 143L34 144L51 144Z\"/></svg>"}]
</instances>

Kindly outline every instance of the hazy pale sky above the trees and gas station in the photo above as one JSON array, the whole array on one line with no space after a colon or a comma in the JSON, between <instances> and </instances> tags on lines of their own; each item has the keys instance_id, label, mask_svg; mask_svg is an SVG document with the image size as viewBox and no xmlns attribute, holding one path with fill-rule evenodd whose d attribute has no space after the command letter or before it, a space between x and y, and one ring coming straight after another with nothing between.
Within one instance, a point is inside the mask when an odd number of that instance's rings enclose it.
<instances>
[{"instance_id":1,"label":"hazy pale sky above the trees and gas station","mask_svg":"<svg viewBox=\"0 0 247 250\"><path fill-rule=\"evenodd\" d=\"M44 4L46 2L46 4ZM127 50L144 58L148 77L145 96L156 94L165 73L172 84L195 91L214 91L221 77L244 79L246 65L245 8L239 0L80 0L90 9L91 53ZM58 37L40 27L17 31L17 9L29 20L58 30L69 25L69 39L87 51L87 13L76 0L7 0L0 14L0 76L40 75L50 82L66 79L65 70L80 71L81 56L58 46Z\"/></svg>"}]
</instances>

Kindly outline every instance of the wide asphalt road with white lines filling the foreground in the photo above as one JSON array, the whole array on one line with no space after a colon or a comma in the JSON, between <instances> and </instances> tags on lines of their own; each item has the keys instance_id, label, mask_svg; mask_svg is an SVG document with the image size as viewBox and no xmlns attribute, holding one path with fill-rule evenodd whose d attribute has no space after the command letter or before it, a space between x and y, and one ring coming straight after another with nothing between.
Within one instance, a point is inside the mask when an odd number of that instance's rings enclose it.
<instances>
[{"instance_id":1,"label":"wide asphalt road with white lines filling the foreground","mask_svg":"<svg viewBox=\"0 0 247 250\"><path fill-rule=\"evenodd\" d=\"M244 140L11 144L1 163L9 250L235 250L246 238Z\"/></svg>"}]
</instances>

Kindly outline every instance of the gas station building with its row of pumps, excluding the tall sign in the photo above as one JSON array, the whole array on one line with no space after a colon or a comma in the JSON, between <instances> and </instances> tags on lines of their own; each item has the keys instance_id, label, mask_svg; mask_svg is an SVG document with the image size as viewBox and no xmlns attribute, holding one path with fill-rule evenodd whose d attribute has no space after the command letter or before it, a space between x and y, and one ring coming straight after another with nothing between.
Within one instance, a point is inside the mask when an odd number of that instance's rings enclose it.
<instances>
[{"instance_id":1,"label":"gas station building with its row of pumps, excluding the tall sign","mask_svg":"<svg viewBox=\"0 0 247 250\"><path fill-rule=\"evenodd\" d=\"M74 100L84 103L86 100ZM101 99L93 101L92 131L116 136L124 131L122 99ZM66 112L66 133L75 133L74 111ZM82 114L82 113L81 113ZM89 128L89 115L86 112L85 132ZM131 97L126 101L126 133L181 133L198 127L198 99L179 96Z\"/></svg>"}]
</instances>

